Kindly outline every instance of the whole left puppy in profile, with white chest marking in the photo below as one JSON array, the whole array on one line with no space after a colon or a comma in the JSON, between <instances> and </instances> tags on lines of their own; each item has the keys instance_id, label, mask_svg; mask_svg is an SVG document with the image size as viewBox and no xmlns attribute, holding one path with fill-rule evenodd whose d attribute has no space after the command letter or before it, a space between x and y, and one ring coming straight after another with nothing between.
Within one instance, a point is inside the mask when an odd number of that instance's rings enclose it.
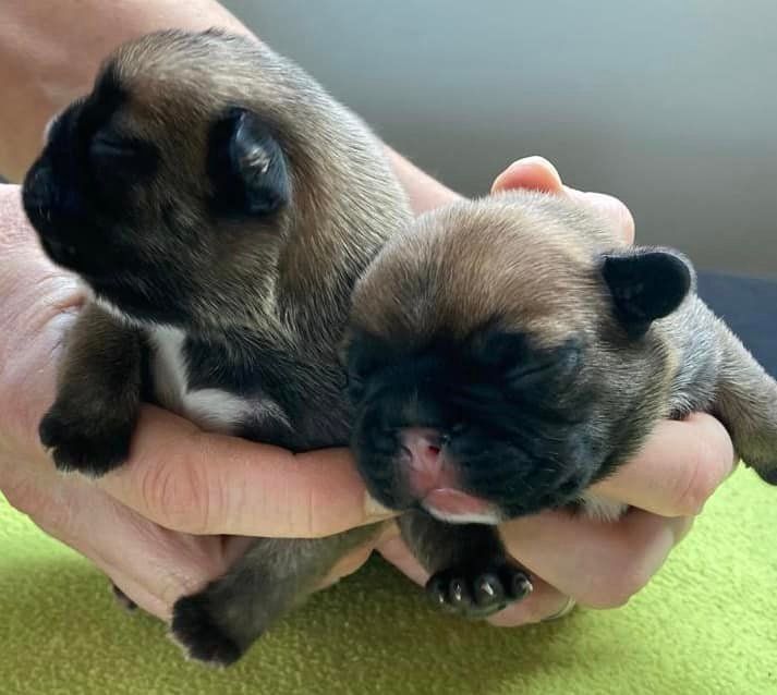
<instances>
[{"instance_id":1,"label":"whole left puppy in profile, with white chest marking","mask_svg":"<svg viewBox=\"0 0 777 695\"><path fill-rule=\"evenodd\" d=\"M410 210L377 138L296 65L218 31L132 41L51 123L23 199L90 294L40 424L59 470L121 465L143 400L295 451L348 443L350 294ZM173 635L234 661L376 531L255 541L175 603Z\"/></svg>"}]
</instances>

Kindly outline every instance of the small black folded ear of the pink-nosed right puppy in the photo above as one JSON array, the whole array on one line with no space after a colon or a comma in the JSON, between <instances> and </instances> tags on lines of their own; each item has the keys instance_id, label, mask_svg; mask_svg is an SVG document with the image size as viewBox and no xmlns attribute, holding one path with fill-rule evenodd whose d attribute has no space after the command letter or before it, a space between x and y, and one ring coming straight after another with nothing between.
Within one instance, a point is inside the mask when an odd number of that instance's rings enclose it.
<instances>
[{"instance_id":1,"label":"small black folded ear of the pink-nosed right puppy","mask_svg":"<svg viewBox=\"0 0 777 695\"><path fill-rule=\"evenodd\" d=\"M616 316L634 338L680 306L694 284L691 264L677 252L663 248L606 255L602 276Z\"/></svg>"}]
</instances>

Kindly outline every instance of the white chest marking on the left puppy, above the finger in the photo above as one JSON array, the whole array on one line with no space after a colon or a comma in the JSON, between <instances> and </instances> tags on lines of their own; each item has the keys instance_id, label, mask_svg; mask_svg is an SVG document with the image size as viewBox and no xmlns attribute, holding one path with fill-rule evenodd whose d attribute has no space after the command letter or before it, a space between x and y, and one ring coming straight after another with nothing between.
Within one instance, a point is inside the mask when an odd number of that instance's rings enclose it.
<instances>
[{"instance_id":1,"label":"white chest marking on the left puppy, above the finger","mask_svg":"<svg viewBox=\"0 0 777 695\"><path fill-rule=\"evenodd\" d=\"M154 346L151 369L157 398L165 407L208 431L232 434L257 403L220 389L190 390L183 353L185 333L177 328L149 330Z\"/></svg>"}]
</instances>

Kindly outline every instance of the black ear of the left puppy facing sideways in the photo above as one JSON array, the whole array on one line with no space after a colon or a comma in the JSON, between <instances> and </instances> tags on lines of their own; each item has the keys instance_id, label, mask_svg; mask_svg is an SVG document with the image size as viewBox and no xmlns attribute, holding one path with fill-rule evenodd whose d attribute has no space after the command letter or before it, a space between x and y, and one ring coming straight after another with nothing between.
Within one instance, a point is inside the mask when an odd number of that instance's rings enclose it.
<instances>
[{"instance_id":1,"label":"black ear of the left puppy facing sideways","mask_svg":"<svg viewBox=\"0 0 777 695\"><path fill-rule=\"evenodd\" d=\"M226 215L269 215L289 203L291 182L278 141L246 109L230 109L211 127L208 176L213 204Z\"/></svg>"}]
</instances>

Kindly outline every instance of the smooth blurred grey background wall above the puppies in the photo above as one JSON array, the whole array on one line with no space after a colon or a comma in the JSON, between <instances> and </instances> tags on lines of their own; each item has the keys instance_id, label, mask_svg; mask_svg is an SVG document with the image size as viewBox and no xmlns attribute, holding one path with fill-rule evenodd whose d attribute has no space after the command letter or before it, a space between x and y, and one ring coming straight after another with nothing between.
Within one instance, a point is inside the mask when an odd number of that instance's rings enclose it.
<instances>
[{"instance_id":1,"label":"smooth blurred grey background wall above the puppies","mask_svg":"<svg viewBox=\"0 0 777 695\"><path fill-rule=\"evenodd\" d=\"M777 278L777 2L227 0L465 194L542 154L642 243Z\"/></svg>"}]
</instances>

